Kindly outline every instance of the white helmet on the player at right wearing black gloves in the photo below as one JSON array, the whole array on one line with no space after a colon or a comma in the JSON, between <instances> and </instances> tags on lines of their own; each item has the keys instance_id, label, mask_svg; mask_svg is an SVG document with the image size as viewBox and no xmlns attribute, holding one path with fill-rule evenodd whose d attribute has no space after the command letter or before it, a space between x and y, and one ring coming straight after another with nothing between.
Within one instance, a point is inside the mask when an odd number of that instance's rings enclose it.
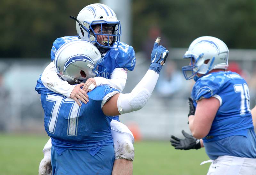
<instances>
[{"instance_id":1,"label":"white helmet on the player at right wearing black gloves","mask_svg":"<svg viewBox=\"0 0 256 175\"><path fill-rule=\"evenodd\" d=\"M196 38L183 56L191 59L190 65L182 67L182 72L187 80L198 79L196 74L207 74L212 69L228 68L228 47L218 38L202 36Z\"/></svg>"}]
</instances>

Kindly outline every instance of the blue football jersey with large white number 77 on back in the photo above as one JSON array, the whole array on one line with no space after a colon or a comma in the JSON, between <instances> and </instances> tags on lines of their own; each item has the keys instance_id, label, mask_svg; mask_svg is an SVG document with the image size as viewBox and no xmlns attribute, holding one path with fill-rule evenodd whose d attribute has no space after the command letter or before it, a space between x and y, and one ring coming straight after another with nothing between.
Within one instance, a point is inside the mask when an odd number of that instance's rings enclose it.
<instances>
[{"instance_id":1,"label":"blue football jersey with large white number 77 on back","mask_svg":"<svg viewBox=\"0 0 256 175\"><path fill-rule=\"evenodd\" d=\"M98 86L88 92L89 102L81 107L73 99L47 89L41 80L37 81L36 91L41 94L45 131L58 154L66 149L81 149L94 155L102 146L113 145L111 117L103 114L101 103L106 95L118 90Z\"/></svg>"}]
</instances>

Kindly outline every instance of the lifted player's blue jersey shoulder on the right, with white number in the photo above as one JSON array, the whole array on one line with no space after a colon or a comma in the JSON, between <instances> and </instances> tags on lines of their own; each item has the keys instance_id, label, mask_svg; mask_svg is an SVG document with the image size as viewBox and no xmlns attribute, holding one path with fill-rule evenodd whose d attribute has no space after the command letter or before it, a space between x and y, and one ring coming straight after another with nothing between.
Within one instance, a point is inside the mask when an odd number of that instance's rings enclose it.
<instances>
[{"instance_id":1,"label":"lifted player's blue jersey shoulder on the right, with white number","mask_svg":"<svg viewBox=\"0 0 256 175\"><path fill-rule=\"evenodd\" d=\"M132 71L135 67L135 52L128 44L120 42L116 49L110 50L110 56L116 60L116 68L126 68Z\"/></svg>"}]
</instances>

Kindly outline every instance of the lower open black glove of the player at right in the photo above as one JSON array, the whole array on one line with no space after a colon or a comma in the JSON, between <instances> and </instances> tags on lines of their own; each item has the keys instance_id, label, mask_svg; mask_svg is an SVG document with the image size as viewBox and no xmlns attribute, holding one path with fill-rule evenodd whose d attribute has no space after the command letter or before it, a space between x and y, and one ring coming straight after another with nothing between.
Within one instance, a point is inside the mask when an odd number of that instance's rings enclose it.
<instances>
[{"instance_id":1,"label":"lower open black glove of the player at right","mask_svg":"<svg viewBox=\"0 0 256 175\"><path fill-rule=\"evenodd\" d=\"M173 135L171 136L170 142L171 142L171 145L175 147L175 149L189 150L189 149L201 148L199 139L194 138L192 135L189 135L184 130L182 130L181 132L184 135L185 139L179 139Z\"/></svg>"}]
</instances>

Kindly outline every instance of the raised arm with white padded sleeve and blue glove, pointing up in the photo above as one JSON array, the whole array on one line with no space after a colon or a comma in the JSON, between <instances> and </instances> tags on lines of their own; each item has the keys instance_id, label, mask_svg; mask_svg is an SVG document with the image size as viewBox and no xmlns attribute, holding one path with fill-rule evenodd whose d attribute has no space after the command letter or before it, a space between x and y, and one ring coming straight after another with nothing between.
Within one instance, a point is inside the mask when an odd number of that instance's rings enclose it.
<instances>
[{"instance_id":1,"label":"raised arm with white padded sleeve and blue glove, pointing up","mask_svg":"<svg viewBox=\"0 0 256 175\"><path fill-rule=\"evenodd\" d=\"M159 72L164 65L168 56L168 51L159 46L160 40L156 40L153 51L151 53L151 65L145 76L141 79L139 84L126 94L115 94L108 102L103 104L102 110L105 115L115 116L132 111L137 111L145 106L152 91L155 88Z\"/></svg>"}]
</instances>

